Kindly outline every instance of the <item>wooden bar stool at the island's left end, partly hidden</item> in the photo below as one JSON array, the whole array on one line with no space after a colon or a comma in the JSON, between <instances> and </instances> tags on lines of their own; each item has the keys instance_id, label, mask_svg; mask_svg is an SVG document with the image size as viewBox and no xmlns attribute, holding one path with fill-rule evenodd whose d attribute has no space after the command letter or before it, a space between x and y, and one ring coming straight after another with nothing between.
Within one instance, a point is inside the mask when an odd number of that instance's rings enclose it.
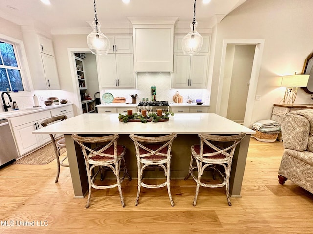
<instances>
[{"instance_id":1,"label":"wooden bar stool at the island's left end, partly hidden","mask_svg":"<svg viewBox=\"0 0 313 234\"><path fill-rule=\"evenodd\" d=\"M56 117L45 119L44 121L42 121L40 123L40 125L43 126L43 127L46 127L50 123L53 123L53 122L56 122L56 121L63 121L65 119L67 119L67 116L65 116L65 115L56 116ZM60 166L68 167L69 165L63 163L64 160L67 159L67 156L65 156L61 160L61 162L60 162L60 159L59 159L61 149L66 149L64 136L57 137L56 134L50 134L50 137L51 137L51 140L52 140L52 145L53 145L53 148L54 148L55 157L57 159L57 176L55 178L55 183L57 183L59 181L59 176L60 176Z\"/></svg>"}]
</instances>

